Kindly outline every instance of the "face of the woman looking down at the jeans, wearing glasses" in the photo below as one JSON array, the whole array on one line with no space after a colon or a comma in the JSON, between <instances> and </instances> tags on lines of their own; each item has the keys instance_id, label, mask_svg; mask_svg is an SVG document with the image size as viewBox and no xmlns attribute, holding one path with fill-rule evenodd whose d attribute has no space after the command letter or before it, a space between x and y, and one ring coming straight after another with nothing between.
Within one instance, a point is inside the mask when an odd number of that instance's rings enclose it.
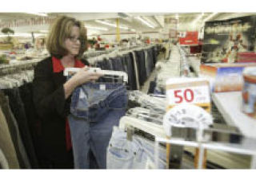
<instances>
[{"instance_id":1,"label":"face of the woman looking down at the jeans, wearing glasses","mask_svg":"<svg viewBox=\"0 0 256 176\"><path fill-rule=\"evenodd\" d=\"M70 37L66 38L65 40L66 49L71 55L78 55L79 53L79 49L81 46L81 41L79 40L79 31L80 29L78 28L78 26L73 26L71 29Z\"/></svg>"}]
</instances>

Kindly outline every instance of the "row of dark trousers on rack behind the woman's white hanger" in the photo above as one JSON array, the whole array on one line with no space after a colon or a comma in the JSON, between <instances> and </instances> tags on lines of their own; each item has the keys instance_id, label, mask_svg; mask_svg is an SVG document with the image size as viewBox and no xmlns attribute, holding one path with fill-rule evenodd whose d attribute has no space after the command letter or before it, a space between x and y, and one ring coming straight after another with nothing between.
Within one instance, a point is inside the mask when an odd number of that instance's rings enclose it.
<instances>
[{"instance_id":1,"label":"row of dark trousers on rack behind the woman's white hanger","mask_svg":"<svg viewBox=\"0 0 256 176\"><path fill-rule=\"evenodd\" d=\"M139 90L154 69L161 45L117 49L87 59L93 67L123 71L128 74L128 89Z\"/></svg>"}]
</instances>

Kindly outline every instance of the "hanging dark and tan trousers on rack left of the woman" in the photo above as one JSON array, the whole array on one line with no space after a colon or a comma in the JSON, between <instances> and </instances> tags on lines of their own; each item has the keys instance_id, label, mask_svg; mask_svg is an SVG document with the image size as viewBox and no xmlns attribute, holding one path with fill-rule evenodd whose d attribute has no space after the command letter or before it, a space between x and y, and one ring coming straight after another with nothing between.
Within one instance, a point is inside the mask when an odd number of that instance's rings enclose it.
<instances>
[{"instance_id":1,"label":"hanging dark and tan trousers on rack left of the woman","mask_svg":"<svg viewBox=\"0 0 256 176\"><path fill-rule=\"evenodd\" d=\"M39 60L0 66L0 150L10 169L38 168L37 115L32 99L34 65Z\"/></svg>"}]
</instances>

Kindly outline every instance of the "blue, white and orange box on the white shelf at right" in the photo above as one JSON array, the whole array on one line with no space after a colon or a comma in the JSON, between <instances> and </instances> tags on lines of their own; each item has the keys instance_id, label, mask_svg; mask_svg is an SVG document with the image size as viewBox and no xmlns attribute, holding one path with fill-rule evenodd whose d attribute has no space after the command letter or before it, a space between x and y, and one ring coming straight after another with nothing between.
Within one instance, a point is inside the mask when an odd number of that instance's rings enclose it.
<instances>
[{"instance_id":1,"label":"blue, white and orange box on the white shelf at right","mask_svg":"<svg viewBox=\"0 0 256 176\"><path fill-rule=\"evenodd\" d=\"M199 76L210 81L211 92L242 91L243 69L255 66L255 63L200 65Z\"/></svg>"}]
</instances>

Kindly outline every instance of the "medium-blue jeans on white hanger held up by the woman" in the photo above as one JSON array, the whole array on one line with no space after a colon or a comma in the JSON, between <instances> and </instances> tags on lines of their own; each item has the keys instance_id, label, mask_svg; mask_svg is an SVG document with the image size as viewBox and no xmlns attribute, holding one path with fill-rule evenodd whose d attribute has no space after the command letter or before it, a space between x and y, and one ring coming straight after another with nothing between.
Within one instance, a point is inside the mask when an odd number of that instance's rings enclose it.
<instances>
[{"instance_id":1,"label":"medium-blue jeans on white hanger held up by the woman","mask_svg":"<svg viewBox=\"0 0 256 176\"><path fill-rule=\"evenodd\" d=\"M93 152L99 168L106 168L106 148L112 128L125 115L127 101L122 84L88 83L74 90L68 118L74 168L90 168L89 151Z\"/></svg>"}]
</instances>

